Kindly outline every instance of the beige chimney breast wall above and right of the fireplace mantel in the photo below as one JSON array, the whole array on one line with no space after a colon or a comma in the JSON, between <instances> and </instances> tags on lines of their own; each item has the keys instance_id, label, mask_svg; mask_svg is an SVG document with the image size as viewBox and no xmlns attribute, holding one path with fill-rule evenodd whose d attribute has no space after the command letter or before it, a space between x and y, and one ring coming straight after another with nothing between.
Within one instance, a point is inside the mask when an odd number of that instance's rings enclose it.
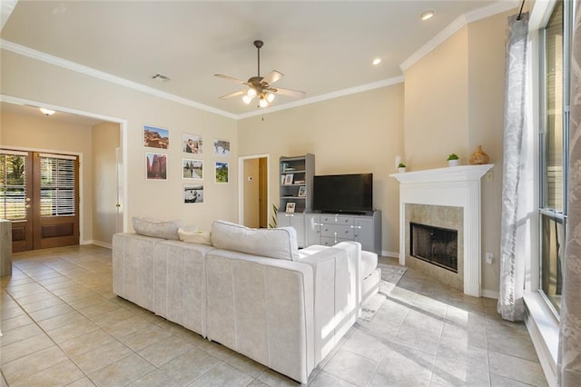
<instances>
[{"instance_id":1,"label":"beige chimney breast wall above and right of the fireplace mantel","mask_svg":"<svg viewBox=\"0 0 581 387\"><path fill-rule=\"evenodd\" d=\"M468 164L478 145L495 164L482 181L482 288L498 292L504 116L505 30L509 12L460 29L405 73L405 149L410 170Z\"/></svg>"}]
</instances>

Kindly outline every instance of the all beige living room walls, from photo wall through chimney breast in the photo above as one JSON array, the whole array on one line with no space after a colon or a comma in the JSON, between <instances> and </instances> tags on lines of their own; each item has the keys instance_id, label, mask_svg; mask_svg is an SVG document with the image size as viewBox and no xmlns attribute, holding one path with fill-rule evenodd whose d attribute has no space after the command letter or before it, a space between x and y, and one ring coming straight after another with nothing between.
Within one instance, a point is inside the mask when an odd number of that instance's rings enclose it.
<instances>
[{"instance_id":1,"label":"all beige living room walls, from photo wall through chimney breast","mask_svg":"<svg viewBox=\"0 0 581 387\"><path fill-rule=\"evenodd\" d=\"M469 155L481 144L496 164L492 181L483 181L482 250L497 258L508 14L461 28L412 65L404 84L239 122L5 51L1 91L127 120L125 210L130 217L184 218L202 228L216 218L237 221L238 155L270 154L271 203L278 203L281 155L315 154L316 174L371 172L374 205L383 211L386 253L399 251L399 184L389 178L395 172L395 156L404 157L409 171L443 167L452 152L461 157L461 164L468 164ZM171 130L168 182L144 179L143 124ZM182 152L177 146L182 132L203 135L206 203L201 205L182 204ZM214 137L231 140L230 184L213 183L209 151ZM497 292L497 259L484 265L482 273L483 288Z\"/></svg>"}]
</instances>

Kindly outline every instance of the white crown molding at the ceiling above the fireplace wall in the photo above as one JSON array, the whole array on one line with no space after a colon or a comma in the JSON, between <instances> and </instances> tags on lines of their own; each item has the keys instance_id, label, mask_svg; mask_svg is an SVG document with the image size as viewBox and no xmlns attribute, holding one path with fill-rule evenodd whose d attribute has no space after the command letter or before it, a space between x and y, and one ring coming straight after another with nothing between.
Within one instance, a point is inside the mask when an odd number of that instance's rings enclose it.
<instances>
[{"instance_id":1,"label":"white crown molding at the ceiling above the fireplace wall","mask_svg":"<svg viewBox=\"0 0 581 387\"><path fill-rule=\"evenodd\" d=\"M408 59L403 61L401 65L399 65L401 72L405 73L409 69L409 67L414 65L425 55L428 55L428 53L430 53L432 50L438 47L438 45L441 45L442 43L447 41L449 37L456 34L465 25L468 25L469 23L476 22L480 19L484 19L492 15L507 12L511 9L516 8L519 5L520 2L518 0L498 1L493 5L487 5L474 11L470 11L464 15L458 16L456 20L454 20L446 28L440 31L438 35L434 36L431 40L429 40L427 44L419 47L418 51L416 51L414 54L409 56Z\"/></svg>"}]
</instances>

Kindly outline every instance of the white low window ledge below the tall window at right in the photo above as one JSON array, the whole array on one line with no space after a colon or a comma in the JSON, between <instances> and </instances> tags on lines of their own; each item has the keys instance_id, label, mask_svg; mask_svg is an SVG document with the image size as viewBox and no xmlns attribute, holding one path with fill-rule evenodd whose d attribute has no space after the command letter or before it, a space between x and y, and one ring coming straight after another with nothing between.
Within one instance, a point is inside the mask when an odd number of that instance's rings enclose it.
<instances>
[{"instance_id":1,"label":"white low window ledge below the tall window at right","mask_svg":"<svg viewBox=\"0 0 581 387\"><path fill-rule=\"evenodd\" d=\"M524 298L527 306L525 324L528 334L535 346L548 385L556 386L559 323L540 294L526 293Z\"/></svg>"}]
</instances>

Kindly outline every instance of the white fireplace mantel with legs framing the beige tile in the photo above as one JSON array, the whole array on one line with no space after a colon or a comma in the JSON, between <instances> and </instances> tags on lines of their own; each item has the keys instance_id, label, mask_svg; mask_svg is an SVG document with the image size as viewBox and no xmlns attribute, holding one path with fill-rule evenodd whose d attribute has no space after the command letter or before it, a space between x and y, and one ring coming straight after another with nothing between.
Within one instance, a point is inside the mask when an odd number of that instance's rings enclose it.
<instances>
[{"instance_id":1,"label":"white fireplace mantel with legs framing the beige tile","mask_svg":"<svg viewBox=\"0 0 581 387\"><path fill-rule=\"evenodd\" d=\"M399 264L409 257L406 204L460 207L463 210L464 293L480 297L480 179L494 164L390 174L399 181ZM458 252L460 253L460 252ZM459 268L458 268L459 274Z\"/></svg>"}]
</instances>

